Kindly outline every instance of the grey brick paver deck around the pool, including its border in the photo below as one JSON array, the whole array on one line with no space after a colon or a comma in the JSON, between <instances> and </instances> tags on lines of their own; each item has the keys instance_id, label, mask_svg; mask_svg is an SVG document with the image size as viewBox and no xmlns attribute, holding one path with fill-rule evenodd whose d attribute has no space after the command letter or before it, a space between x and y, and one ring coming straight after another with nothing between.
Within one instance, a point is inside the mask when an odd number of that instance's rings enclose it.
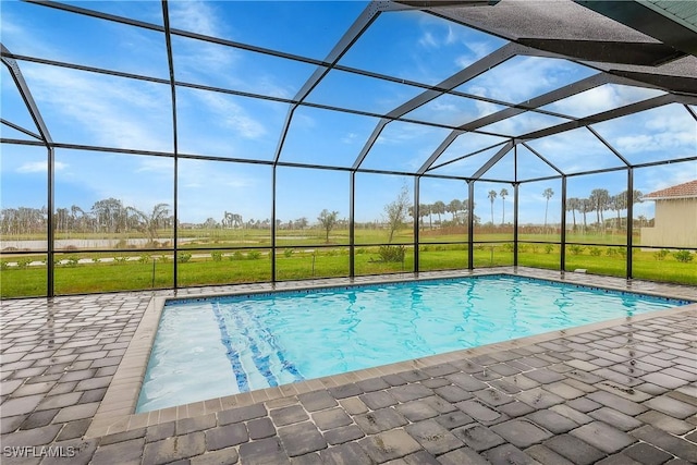
<instances>
[{"instance_id":1,"label":"grey brick paver deck around the pool, including its border","mask_svg":"<svg viewBox=\"0 0 697 465\"><path fill-rule=\"evenodd\" d=\"M697 297L687 286L496 271ZM137 392L121 382L143 374L131 374L124 354L154 295L173 294L2 302L2 464L697 463L697 305L308 384L316 389L131 415Z\"/></svg>"}]
</instances>

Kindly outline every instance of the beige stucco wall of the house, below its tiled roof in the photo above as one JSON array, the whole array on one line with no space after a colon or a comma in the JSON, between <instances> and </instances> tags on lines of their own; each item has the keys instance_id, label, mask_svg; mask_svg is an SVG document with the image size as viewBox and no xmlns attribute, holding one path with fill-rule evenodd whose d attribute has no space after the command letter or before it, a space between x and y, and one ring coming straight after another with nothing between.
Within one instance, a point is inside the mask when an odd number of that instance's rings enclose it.
<instances>
[{"instance_id":1,"label":"beige stucco wall of the house, below its tiled roof","mask_svg":"<svg viewBox=\"0 0 697 465\"><path fill-rule=\"evenodd\" d=\"M641 228L641 245L697 247L697 198L656 200L653 228Z\"/></svg>"}]
</instances>

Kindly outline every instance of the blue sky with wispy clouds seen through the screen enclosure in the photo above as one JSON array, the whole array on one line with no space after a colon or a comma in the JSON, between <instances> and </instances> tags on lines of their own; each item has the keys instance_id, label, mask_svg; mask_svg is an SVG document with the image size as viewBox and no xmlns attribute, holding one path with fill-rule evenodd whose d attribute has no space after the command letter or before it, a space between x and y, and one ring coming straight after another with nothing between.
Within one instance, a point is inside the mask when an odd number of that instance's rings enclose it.
<instances>
[{"instance_id":1,"label":"blue sky with wispy clouds seen through the screen enclosure","mask_svg":"<svg viewBox=\"0 0 697 465\"><path fill-rule=\"evenodd\" d=\"M70 2L80 7L162 24L161 3ZM64 60L71 63L168 78L162 34L97 19L69 14L35 4L2 1L2 41L14 53ZM174 28L212 35L285 53L322 60L365 8L358 1L237 2L173 1L170 20ZM261 25L261 26L260 26ZM341 59L340 64L398 78L433 85L505 41L484 33L419 12L380 15L368 32ZM181 82L218 86L278 98L293 98L316 66L250 51L173 37L175 77ZM56 142L114 148L172 151L172 108L168 85L74 71L21 61L22 72ZM509 102L522 102L595 74L565 60L515 57L457 90ZM23 108L8 71L2 69L2 118L36 131ZM416 86L332 70L309 94L307 101L376 113L389 112L419 95ZM568 117L586 117L660 95L629 86L604 85L558 101L546 110ZM289 106L178 87L179 150L183 154L223 158L271 160L279 144ZM461 125L500 110L501 106L460 96L442 96L409 112L405 118ZM510 136L567 121L527 112L485 131L500 137L461 135L436 166L463 155L502 144ZM378 120L370 117L301 107L291 121L281 160L321 166L351 167ZM650 162L695 156L697 123L680 105L670 105L621 120L594 125L631 162ZM27 138L5 125L3 137ZM388 124L366 157L363 168L417 170L450 130L408 122ZM579 129L530 142L530 147L567 173L622 166L621 161L588 130ZM432 172L472 175L499 147ZM2 207L46 205L46 151L41 148L3 145ZM121 156L98 151L56 151L56 203L89 209L106 197L148 210L155 204L173 204L174 163L169 158ZM518 147L518 178L554 175L554 171L523 147ZM180 219L203 222L222 218L223 211L245 219L270 217L271 169L260 164L181 160ZM487 176L512 179L513 152ZM635 173L635 188L645 193L686 182L697 176L697 163L677 163ZM358 174L356 219L379 219L386 204L408 176ZM315 221L323 209L348 216L350 175L344 171L280 168L278 218L306 217ZM477 215L490 219L487 193L513 188L510 184L479 184ZM548 221L560 219L561 182L524 185L521 219L541 222L542 192L551 187ZM596 187L617 194L626 188L624 172L573 176L570 197L586 197ZM421 203L464 199L461 181L421 181ZM512 211L512 195L505 199ZM637 207L637 216L652 216L650 204ZM501 199L494 204L500 221ZM508 219L512 216L506 213Z\"/></svg>"}]
</instances>

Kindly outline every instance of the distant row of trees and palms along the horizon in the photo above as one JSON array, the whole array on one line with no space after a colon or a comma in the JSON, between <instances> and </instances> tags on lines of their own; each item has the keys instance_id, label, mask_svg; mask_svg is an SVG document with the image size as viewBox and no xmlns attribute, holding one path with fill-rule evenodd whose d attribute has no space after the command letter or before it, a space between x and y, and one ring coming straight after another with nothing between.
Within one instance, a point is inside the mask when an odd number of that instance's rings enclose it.
<instances>
[{"instance_id":1,"label":"distant row of trees and palms along the horizon","mask_svg":"<svg viewBox=\"0 0 697 465\"><path fill-rule=\"evenodd\" d=\"M510 193L506 188L502 188L499 192L489 191L491 225L496 225L494 204L497 198L501 199L500 224L505 224L505 198L509 195ZM542 196L546 198L545 228L547 228L549 200L554 196L554 192L548 187L542 192ZM615 213L614 218L611 219L610 225L619 229L622 227L621 211L627 209L629 200L636 204L641 201L641 198L643 194L639 191L634 191L633 195L629 196L627 191L610 195L608 189L595 188L587 198L567 198L565 209L572 215L574 231L579 228L578 222L582 218L583 225L580 228L586 231L589 228L588 215L592 212L596 213L596 221L591 222L590 227L596 229L604 228L604 216L608 211ZM405 193L404 189L398 197L396 203L390 205L396 205L401 209L400 218L402 212L404 218L406 216L414 218L414 206L409 201L408 193ZM447 215L450 217L445 218ZM449 203L438 200L432 204L419 204L418 217L419 224L423 227L425 227L425 220L428 218L428 224L431 229L433 224L442 228L466 225L469 221L469 201L467 198L462 200L454 198ZM436 217L436 221L433 217ZM394 218L394 215L386 210L382 221L356 223L356 227L365 229L388 227L390 230L394 230L390 224L393 222L391 218ZM48 210L46 207L2 208L0 209L0 233L5 235L42 233L46 231L47 220ZM58 233L127 233L137 231L144 233L149 241L157 238L158 230L172 229L174 225L174 217L171 215L169 204L157 204L151 210L144 211L132 206L125 206L123 201L113 197L96 201L88 210L77 205L73 205L70 208L57 208L53 221ZM475 215L475 224L479 224L480 221L480 218ZM315 224L327 230L328 223L331 223L331 229L348 227L347 219L339 218L339 213L335 211L325 210L320 212ZM276 220L278 229L305 230L311 225L306 217L288 221ZM239 213L224 211L220 220L211 217L203 223L180 222L180 227L188 229L270 229L271 220L267 218L245 221ZM328 235L329 233L327 233Z\"/></svg>"}]
</instances>

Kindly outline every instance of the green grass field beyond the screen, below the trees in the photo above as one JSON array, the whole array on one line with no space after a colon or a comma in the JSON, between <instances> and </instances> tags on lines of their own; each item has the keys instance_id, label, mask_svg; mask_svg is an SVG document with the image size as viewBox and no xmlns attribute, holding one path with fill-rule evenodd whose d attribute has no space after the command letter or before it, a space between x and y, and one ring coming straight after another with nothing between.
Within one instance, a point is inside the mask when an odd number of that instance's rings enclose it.
<instances>
[{"instance_id":1,"label":"green grass field beyond the screen, below the trees","mask_svg":"<svg viewBox=\"0 0 697 465\"><path fill-rule=\"evenodd\" d=\"M227 231L227 241L242 241L240 231ZM277 280L297 280L311 278L346 277L348 276L350 257L347 246L318 247L323 245L323 236L306 234L304 237L285 233L284 241L278 245L292 245L292 248L279 249L277 254ZM427 231L428 233L428 231ZM268 234L268 232L267 232ZM411 241L411 231L402 231L399 241ZM332 232L332 236L334 232ZM364 245L356 245L355 273L356 276L409 272L414 269L413 247L406 246L404 261L380 261L378 247L375 243L384 242L384 230L363 230L356 234L356 241ZM237 237L240 236L240 237ZM543 236L543 235L539 235ZM261 245L265 241L259 233L256 236L248 232L247 241L256 237ZM266 236L268 238L268 235ZM467 268L466 244L435 244L433 242L464 241L465 235L435 233L421 235L428 241L419 246L419 269L449 270ZM235 242L218 240L198 244L203 246L220 247L233 246ZM510 241L509 234L475 234L477 241ZM567 237L570 242L574 238ZM604 237L608 244L612 244ZM523 240L523 237L521 237ZM528 237L529 240L529 237ZM540 238L531 238L539 241ZM332 237L332 242L343 242L341 234ZM579 241L582 242L582 241ZM602 237L584 236L585 243L602 244ZM567 246L566 270L586 269L588 273L603 276L625 276L626 258L620 254L620 247L606 246ZM573 252L572 252L573 250ZM610 252L609 252L610 250ZM191 257L186 262L178 264L180 286L268 282L271 281L271 260L269 249L246 249L237 253L230 249L184 249L181 252ZM595 255L594 255L595 254ZM111 262L99 259L118 258ZM143 260L125 260L126 257L143 257ZM134 249L123 253L90 253L66 252L57 254L58 260L72 259L72 265L57 265L54 268L54 289L57 294L97 293L110 291L131 291L147 289L164 289L173 285L173 255L172 252L143 254ZM513 265L512 243L476 244L474 249L474 267L498 267ZM0 262L17 260L45 260L45 254L8 255L3 254ZM89 259L87 264L76 264L76 259ZM155 260L155 272L152 261ZM521 243L518 246L518 265L534 268L559 269L560 247L553 244ZM2 298L36 296L46 294L46 266L8 267L2 266L0 278L0 295ZM656 250L634 253L633 274L637 279L674 282L697 285L697 259L690 262L680 262L672 254L658 259Z\"/></svg>"}]
</instances>

